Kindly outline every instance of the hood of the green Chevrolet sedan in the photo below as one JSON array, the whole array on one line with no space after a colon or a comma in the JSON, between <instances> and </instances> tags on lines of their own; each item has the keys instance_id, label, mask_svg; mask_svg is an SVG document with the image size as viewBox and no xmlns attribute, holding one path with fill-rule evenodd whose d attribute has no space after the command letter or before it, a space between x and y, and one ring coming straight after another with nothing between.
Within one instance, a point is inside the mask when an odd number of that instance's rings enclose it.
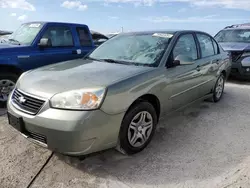
<instances>
[{"instance_id":1,"label":"hood of the green Chevrolet sedan","mask_svg":"<svg viewBox=\"0 0 250 188\"><path fill-rule=\"evenodd\" d=\"M107 87L152 69L154 68L77 59L27 72L16 86L26 93L50 98L56 93L74 89Z\"/></svg>"}]
</instances>

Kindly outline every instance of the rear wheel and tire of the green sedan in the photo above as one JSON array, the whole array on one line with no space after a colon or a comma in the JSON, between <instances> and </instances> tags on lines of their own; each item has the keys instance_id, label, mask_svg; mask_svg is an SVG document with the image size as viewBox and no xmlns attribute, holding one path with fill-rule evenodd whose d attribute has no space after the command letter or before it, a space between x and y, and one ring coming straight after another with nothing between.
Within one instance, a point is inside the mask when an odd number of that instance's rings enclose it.
<instances>
[{"instance_id":1,"label":"rear wheel and tire of the green sedan","mask_svg":"<svg viewBox=\"0 0 250 188\"><path fill-rule=\"evenodd\" d=\"M221 100L224 92L224 87L225 87L225 76L221 74L214 86L214 91L213 91L213 102L217 103Z\"/></svg>"}]
</instances>

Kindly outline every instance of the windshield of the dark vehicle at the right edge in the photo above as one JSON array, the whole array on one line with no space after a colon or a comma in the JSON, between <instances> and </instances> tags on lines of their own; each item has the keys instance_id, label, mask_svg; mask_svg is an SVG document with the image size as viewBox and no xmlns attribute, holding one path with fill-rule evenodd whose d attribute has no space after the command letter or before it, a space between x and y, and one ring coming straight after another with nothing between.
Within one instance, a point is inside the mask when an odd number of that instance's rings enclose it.
<instances>
[{"instance_id":1,"label":"windshield of the dark vehicle at the right edge","mask_svg":"<svg viewBox=\"0 0 250 188\"><path fill-rule=\"evenodd\" d=\"M215 39L218 42L250 42L250 29L222 30Z\"/></svg>"}]
</instances>

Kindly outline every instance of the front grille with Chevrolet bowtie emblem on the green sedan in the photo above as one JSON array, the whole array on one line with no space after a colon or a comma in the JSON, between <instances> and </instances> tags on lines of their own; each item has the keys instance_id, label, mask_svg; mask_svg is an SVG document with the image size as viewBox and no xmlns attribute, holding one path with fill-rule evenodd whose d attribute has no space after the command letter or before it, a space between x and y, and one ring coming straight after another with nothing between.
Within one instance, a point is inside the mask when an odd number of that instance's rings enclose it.
<instances>
[{"instance_id":1,"label":"front grille with Chevrolet bowtie emblem on the green sedan","mask_svg":"<svg viewBox=\"0 0 250 188\"><path fill-rule=\"evenodd\" d=\"M44 100L37 99L28 94L15 89L12 95L12 102L19 107L20 110L35 115L45 103Z\"/></svg>"}]
</instances>

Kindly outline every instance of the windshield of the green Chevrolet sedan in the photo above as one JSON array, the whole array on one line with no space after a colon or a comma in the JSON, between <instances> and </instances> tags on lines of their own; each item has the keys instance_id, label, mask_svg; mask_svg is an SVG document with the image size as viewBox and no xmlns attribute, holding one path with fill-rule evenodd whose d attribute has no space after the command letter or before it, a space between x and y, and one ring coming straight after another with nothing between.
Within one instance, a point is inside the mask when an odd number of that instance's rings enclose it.
<instances>
[{"instance_id":1,"label":"windshield of the green Chevrolet sedan","mask_svg":"<svg viewBox=\"0 0 250 188\"><path fill-rule=\"evenodd\" d=\"M104 42L88 57L109 59L112 63L126 62L157 66L173 34L121 34Z\"/></svg>"}]
</instances>

